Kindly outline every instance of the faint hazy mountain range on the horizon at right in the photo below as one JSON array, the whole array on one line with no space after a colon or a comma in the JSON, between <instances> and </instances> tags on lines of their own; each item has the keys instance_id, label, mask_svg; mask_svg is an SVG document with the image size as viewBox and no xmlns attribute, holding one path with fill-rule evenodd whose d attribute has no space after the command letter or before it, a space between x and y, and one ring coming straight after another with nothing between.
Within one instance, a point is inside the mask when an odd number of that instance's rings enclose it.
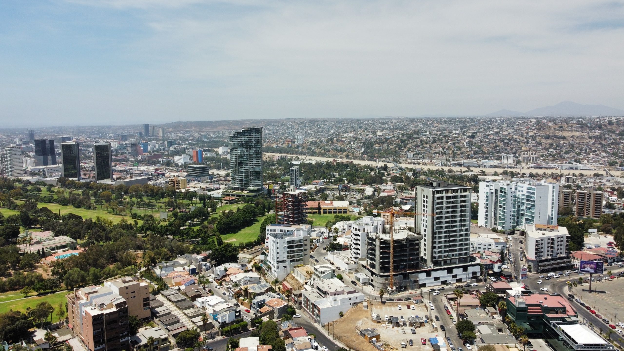
<instances>
[{"instance_id":1,"label":"faint hazy mountain range on the horizon at right","mask_svg":"<svg viewBox=\"0 0 624 351\"><path fill-rule=\"evenodd\" d=\"M500 110L485 116L624 116L624 111L604 105L582 105L576 102L563 101L555 106L539 107L527 112Z\"/></svg>"}]
</instances>

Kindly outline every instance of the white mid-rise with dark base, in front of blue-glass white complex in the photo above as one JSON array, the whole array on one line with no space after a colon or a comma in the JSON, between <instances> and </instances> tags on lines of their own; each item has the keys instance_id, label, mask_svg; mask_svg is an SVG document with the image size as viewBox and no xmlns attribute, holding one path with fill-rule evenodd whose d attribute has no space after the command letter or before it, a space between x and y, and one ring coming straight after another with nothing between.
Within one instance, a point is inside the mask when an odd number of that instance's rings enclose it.
<instances>
[{"instance_id":1,"label":"white mid-rise with dark base, in front of blue-glass white complex","mask_svg":"<svg viewBox=\"0 0 624 351\"><path fill-rule=\"evenodd\" d=\"M527 264L534 272L560 270L570 267L568 255L568 229L557 225L527 225L524 252Z\"/></svg>"}]
</instances>

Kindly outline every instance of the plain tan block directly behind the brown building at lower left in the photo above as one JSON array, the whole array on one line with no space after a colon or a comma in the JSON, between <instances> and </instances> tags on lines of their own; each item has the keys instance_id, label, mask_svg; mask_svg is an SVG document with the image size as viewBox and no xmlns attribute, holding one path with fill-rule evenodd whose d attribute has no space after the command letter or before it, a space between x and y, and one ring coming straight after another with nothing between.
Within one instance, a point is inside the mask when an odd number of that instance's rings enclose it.
<instances>
[{"instance_id":1,"label":"plain tan block directly behind the brown building at lower left","mask_svg":"<svg viewBox=\"0 0 624 351\"><path fill-rule=\"evenodd\" d=\"M104 282L114 294L123 297L128 305L128 313L139 320L150 319L150 285L137 277L123 277Z\"/></svg>"}]
</instances>

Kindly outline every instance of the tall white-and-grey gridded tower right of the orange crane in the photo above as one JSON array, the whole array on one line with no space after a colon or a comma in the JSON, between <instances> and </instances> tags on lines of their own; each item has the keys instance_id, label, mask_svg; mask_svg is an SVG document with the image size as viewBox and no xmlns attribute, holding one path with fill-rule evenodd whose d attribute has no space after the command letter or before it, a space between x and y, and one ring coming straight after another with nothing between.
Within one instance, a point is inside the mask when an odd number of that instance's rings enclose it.
<instances>
[{"instance_id":1,"label":"tall white-and-grey gridded tower right of the orange crane","mask_svg":"<svg viewBox=\"0 0 624 351\"><path fill-rule=\"evenodd\" d=\"M416 228L429 267L470 263L470 188L442 180L416 188Z\"/></svg>"}]
</instances>

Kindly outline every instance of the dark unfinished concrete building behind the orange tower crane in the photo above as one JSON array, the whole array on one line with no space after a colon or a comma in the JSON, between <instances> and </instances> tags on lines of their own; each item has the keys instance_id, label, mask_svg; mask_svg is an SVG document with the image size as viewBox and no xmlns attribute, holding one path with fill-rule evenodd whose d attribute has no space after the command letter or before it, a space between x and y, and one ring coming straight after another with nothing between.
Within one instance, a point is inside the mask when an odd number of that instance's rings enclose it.
<instances>
[{"instance_id":1,"label":"dark unfinished concrete building behind the orange tower crane","mask_svg":"<svg viewBox=\"0 0 624 351\"><path fill-rule=\"evenodd\" d=\"M421 270L419 255L422 235L399 229L394 237L393 285L397 290L417 289L420 284L418 272ZM367 238L366 263L363 272L369 277L369 284L375 288L388 289L390 284L391 238L390 234L374 234Z\"/></svg>"}]
</instances>

